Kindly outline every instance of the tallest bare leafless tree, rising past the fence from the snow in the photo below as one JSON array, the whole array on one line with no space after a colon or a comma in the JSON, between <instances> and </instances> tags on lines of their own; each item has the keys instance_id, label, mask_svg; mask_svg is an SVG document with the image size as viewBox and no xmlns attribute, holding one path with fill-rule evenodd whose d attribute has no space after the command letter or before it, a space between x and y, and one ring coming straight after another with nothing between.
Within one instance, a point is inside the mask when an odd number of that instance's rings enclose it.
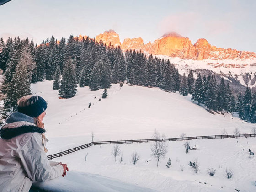
<instances>
[{"instance_id":1,"label":"tallest bare leafless tree, rising past the fence from the snow","mask_svg":"<svg viewBox=\"0 0 256 192\"><path fill-rule=\"evenodd\" d=\"M162 135L162 139L165 135ZM153 139L160 139L160 133L155 130L153 134ZM151 146L152 156L157 159L157 166L160 158L164 158L165 154L168 152L168 145L164 141L155 141Z\"/></svg>"}]
</instances>

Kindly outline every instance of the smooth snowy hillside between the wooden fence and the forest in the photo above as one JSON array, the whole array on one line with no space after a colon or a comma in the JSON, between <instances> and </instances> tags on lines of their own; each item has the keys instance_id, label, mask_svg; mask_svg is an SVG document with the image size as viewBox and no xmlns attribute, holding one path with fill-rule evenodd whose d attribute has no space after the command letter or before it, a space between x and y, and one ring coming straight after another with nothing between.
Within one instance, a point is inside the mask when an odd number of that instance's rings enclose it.
<instances>
[{"instance_id":1,"label":"smooth snowy hillside between the wooden fence and the forest","mask_svg":"<svg viewBox=\"0 0 256 192\"><path fill-rule=\"evenodd\" d=\"M91 142L91 132L94 141L104 141L150 139L155 129L169 138L181 133L219 135L223 128L229 134L235 128L250 133L254 127L229 114L213 115L189 96L159 88L124 84L120 89L119 84L114 84L108 89L107 99L98 101L103 90L90 91L88 87L78 88L73 98L59 99L52 83L45 80L32 84L32 92L48 102L44 119L48 155Z\"/></svg>"}]
</instances>

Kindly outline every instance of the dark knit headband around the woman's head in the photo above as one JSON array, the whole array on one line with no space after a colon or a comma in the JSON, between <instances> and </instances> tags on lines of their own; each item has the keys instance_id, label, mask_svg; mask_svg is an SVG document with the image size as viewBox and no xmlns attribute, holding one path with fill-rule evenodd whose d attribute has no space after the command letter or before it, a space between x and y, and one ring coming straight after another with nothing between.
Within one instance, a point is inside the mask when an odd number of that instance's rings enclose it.
<instances>
[{"instance_id":1,"label":"dark knit headband around the woman's head","mask_svg":"<svg viewBox=\"0 0 256 192\"><path fill-rule=\"evenodd\" d=\"M32 96L29 100L32 100L33 104L25 107L18 106L18 112L21 112L30 117L38 117L46 110L47 103L41 96Z\"/></svg>"}]
</instances>

